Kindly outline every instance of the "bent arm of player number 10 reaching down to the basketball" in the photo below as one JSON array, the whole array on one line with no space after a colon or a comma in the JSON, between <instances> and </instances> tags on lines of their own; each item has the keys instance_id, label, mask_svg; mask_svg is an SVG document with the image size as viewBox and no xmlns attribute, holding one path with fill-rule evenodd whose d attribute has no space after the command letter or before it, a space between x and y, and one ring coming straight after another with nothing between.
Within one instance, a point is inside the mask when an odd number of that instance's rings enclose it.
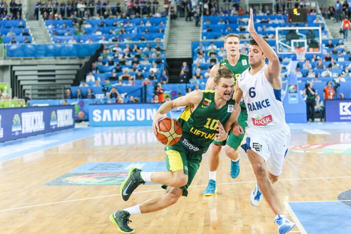
<instances>
[{"instance_id":1,"label":"bent arm of player number 10 reaching down to the basketball","mask_svg":"<svg viewBox=\"0 0 351 234\"><path fill-rule=\"evenodd\" d=\"M158 121L164 118L164 114L180 106L193 105L196 108L202 100L202 95L203 92L194 90L185 96L179 96L174 100L164 102L153 115L152 128L154 133L157 134L157 130L159 130Z\"/></svg>"}]
</instances>

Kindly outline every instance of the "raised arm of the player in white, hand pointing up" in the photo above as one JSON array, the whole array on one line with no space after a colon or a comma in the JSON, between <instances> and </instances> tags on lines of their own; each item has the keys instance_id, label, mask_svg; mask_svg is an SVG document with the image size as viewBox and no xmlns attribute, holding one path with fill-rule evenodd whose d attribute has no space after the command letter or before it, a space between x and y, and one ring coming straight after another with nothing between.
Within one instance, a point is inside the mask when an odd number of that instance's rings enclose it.
<instances>
[{"instance_id":1,"label":"raised arm of the player in white, hand pointing up","mask_svg":"<svg viewBox=\"0 0 351 234\"><path fill-rule=\"evenodd\" d=\"M253 23L252 8L250 8L250 18L248 20L247 30L251 34L252 38L257 42L263 54L268 58L268 68L265 70L265 76L273 88L281 89L281 66L279 57L276 55L274 49L272 49L272 47L270 47L270 45L256 32Z\"/></svg>"}]
</instances>

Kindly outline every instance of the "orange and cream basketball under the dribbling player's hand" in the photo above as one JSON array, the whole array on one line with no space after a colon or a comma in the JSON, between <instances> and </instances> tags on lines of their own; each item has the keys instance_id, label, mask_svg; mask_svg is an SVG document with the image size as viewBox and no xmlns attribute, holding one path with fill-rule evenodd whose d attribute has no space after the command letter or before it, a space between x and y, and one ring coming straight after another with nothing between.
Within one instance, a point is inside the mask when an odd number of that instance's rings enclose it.
<instances>
[{"instance_id":1,"label":"orange and cream basketball under the dribbling player's hand","mask_svg":"<svg viewBox=\"0 0 351 234\"><path fill-rule=\"evenodd\" d=\"M156 138L165 145L173 145L181 138L182 129L180 123L173 118L161 118L158 121L159 130Z\"/></svg>"}]
</instances>

